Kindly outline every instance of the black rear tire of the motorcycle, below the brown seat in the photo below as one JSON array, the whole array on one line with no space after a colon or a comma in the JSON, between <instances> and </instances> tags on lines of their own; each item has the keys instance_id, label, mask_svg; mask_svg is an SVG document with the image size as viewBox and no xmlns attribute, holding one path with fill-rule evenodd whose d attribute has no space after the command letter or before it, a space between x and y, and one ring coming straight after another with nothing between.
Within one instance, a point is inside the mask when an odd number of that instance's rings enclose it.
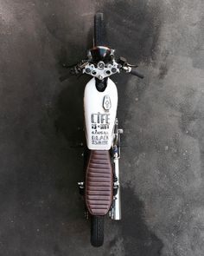
<instances>
[{"instance_id":1,"label":"black rear tire of the motorcycle, below the brown seat","mask_svg":"<svg viewBox=\"0 0 204 256\"><path fill-rule=\"evenodd\" d=\"M91 216L91 244L94 247L104 243L104 216Z\"/></svg>"}]
</instances>

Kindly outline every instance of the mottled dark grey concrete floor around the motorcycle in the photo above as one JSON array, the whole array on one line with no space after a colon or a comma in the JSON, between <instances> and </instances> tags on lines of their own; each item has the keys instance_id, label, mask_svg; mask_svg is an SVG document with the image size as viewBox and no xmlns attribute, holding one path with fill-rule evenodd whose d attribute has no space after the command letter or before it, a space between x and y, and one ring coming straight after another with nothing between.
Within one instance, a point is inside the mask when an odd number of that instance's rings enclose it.
<instances>
[{"instance_id":1,"label":"mottled dark grey concrete floor around the motorcycle","mask_svg":"<svg viewBox=\"0 0 204 256\"><path fill-rule=\"evenodd\" d=\"M89 244L76 187L82 98L70 77L105 12L109 43L145 79L118 82L123 220ZM0 255L201 256L204 2L0 0Z\"/></svg>"}]
</instances>

